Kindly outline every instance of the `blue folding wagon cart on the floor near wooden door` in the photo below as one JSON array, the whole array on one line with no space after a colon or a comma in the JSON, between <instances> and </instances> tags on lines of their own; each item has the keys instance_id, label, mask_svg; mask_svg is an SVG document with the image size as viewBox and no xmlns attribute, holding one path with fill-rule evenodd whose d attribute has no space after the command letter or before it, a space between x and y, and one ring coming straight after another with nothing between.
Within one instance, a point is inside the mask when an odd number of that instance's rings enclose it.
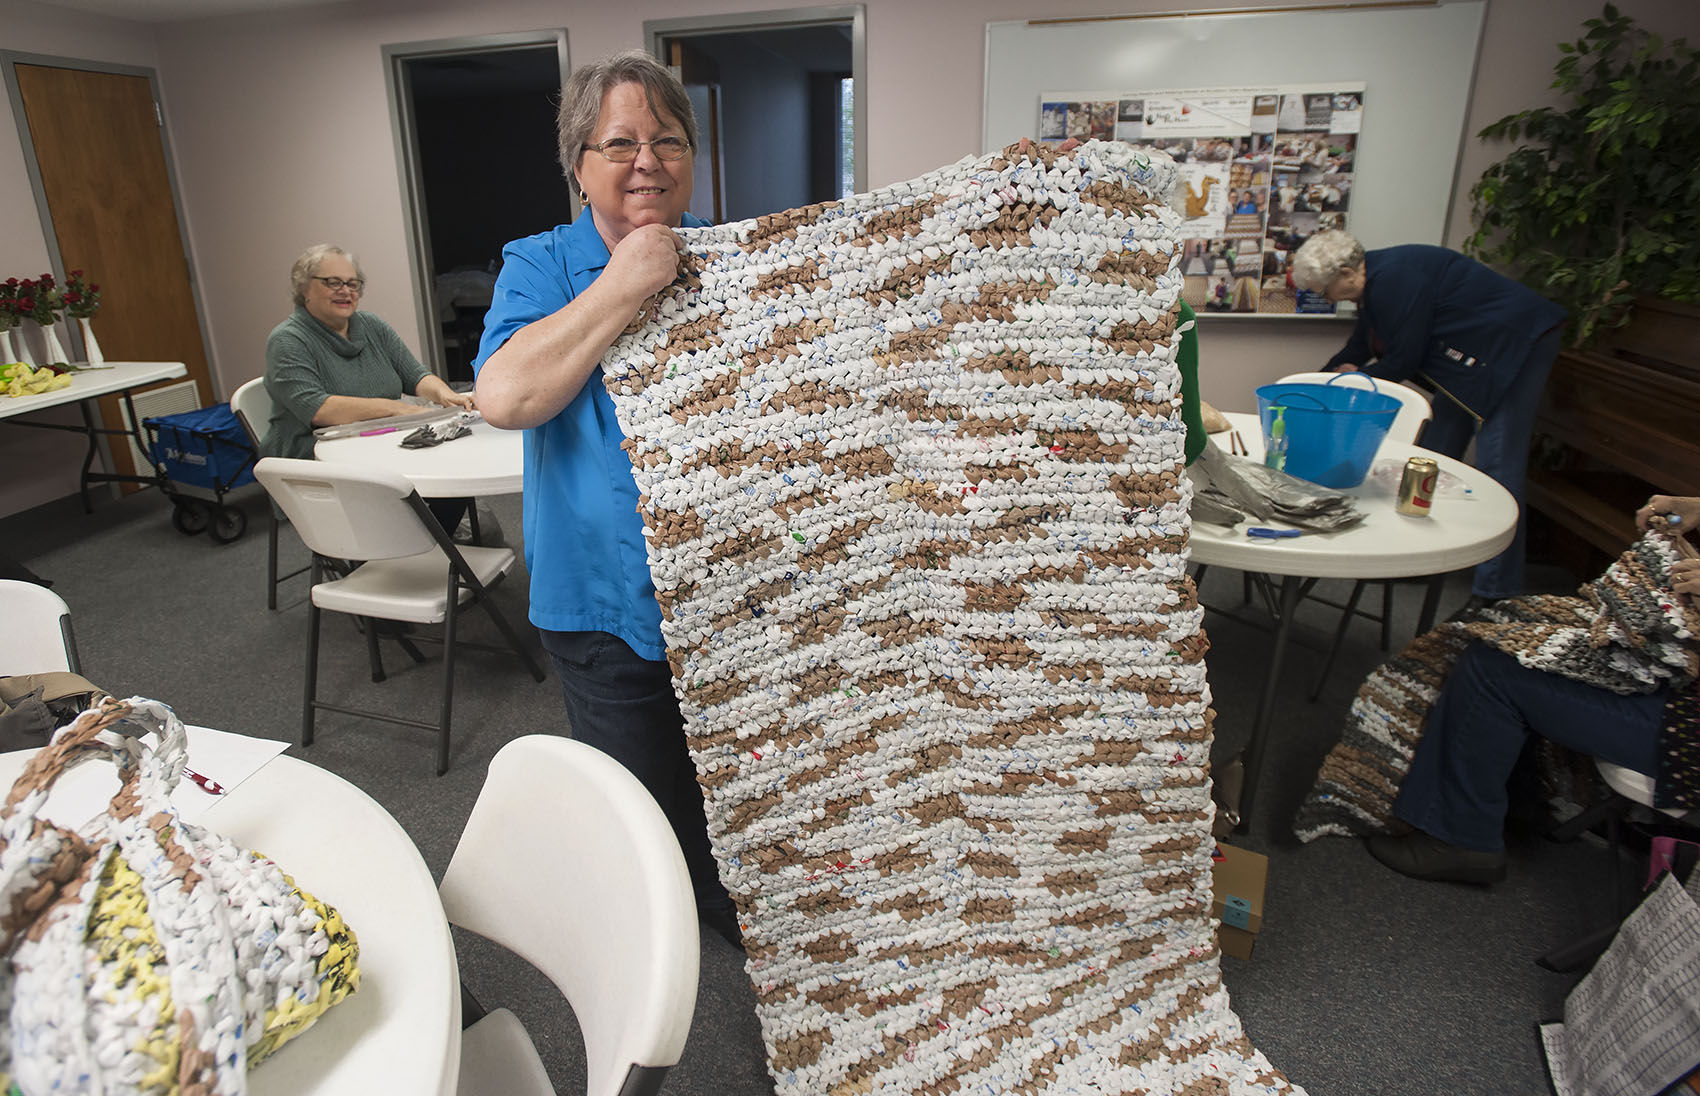
<instances>
[{"instance_id":1,"label":"blue folding wagon cart on the floor near wooden door","mask_svg":"<svg viewBox=\"0 0 1700 1096\"><path fill-rule=\"evenodd\" d=\"M160 489L172 500L172 525L185 537L206 532L230 544L248 528L240 506L226 506L224 494L253 483L253 450L228 403L197 411L158 415L141 423L148 432L148 457L160 476Z\"/></svg>"}]
</instances>

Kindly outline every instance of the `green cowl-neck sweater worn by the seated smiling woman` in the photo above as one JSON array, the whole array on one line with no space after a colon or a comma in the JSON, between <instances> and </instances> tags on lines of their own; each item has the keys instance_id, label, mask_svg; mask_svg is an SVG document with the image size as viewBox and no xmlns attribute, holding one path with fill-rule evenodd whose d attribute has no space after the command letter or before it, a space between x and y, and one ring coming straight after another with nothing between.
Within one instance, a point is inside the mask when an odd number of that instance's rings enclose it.
<instances>
[{"instance_id":1,"label":"green cowl-neck sweater worn by the seated smiling woman","mask_svg":"<svg viewBox=\"0 0 1700 1096\"><path fill-rule=\"evenodd\" d=\"M265 457L313 459L313 416L332 396L401 399L425 367L394 330L371 313L348 318L348 338L298 308L265 340L265 391L272 421L260 438Z\"/></svg>"}]
</instances>

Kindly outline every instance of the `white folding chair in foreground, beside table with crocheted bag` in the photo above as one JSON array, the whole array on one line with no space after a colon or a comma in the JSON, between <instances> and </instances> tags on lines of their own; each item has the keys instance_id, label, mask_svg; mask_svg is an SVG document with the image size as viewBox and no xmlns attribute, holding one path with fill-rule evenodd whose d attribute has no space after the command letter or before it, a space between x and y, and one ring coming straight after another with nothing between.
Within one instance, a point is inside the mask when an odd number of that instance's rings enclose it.
<instances>
[{"instance_id":1,"label":"white folding chair in foreground, beside table with crocheted bag","mask_svg":"<svg viewBox=\"0 0 1700 1096\"><path fill-rule=\"evenodd\" d=\"M549 975L585 1037L588 1096L651 1096L697 999L697 914L661 807L605 753L551 734L490 763L442 885L452 924ZM507 1009L461 1038L459 1096L554 1096Z\"/></svg>"}]
</instances>

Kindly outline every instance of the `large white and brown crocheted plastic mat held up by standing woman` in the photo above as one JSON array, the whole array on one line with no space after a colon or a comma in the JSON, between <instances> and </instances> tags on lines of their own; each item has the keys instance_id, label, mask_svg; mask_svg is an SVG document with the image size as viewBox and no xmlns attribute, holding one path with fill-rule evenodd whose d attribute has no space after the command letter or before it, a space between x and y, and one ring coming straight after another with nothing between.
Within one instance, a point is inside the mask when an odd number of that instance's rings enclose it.
<instances>
[{"instance_id":1,"label":"large white and brown crocheted plastic mat held up by standing woman","mask_svg":"<svg viewBox=\"0 0 1700 1096\"><path fill-rule=\"evenodd\" d=\"M685 229L604 374L780 1093L1295 1093L1210 919L1161 153Z\"/></svg>"}]
</instances>

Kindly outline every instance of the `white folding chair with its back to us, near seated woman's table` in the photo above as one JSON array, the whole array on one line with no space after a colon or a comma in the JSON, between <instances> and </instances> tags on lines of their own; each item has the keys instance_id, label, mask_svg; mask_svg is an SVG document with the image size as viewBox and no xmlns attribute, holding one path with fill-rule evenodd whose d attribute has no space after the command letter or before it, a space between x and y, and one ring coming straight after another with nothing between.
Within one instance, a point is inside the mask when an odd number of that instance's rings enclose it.
<instances>
[{"instance_id":1,"label":"white folding chair with its back to us, near seated woman's table","mask_svg":"<svg viewBox=\"0 0 1700 1096\"><path fill-rule=\"evenodd\" d=\"M320 709L362 715L408 727L437 731L437 773L449 770L449 717L454 705L454 659L457 647L502 651L461 642L456 636L459 607L476 602L490 613L513 654L532 678L542 669L520 642L500 608L486 596L488 586L513 568L512 549L456 545L430 508L393 472L357 469L345 464L267 457L253 474L282 506L301 540L313 552L308 595L308 680L301 714L301 744L313 743L313 720ZM338 561L364 561L340 576L330 576ZM320 612L330 610L366 619L367 656L372 680L384 678L377 654L377 620L442 624L442 710L435 724L389 712L345 709L318 700Z\"/></svg>"}]
</instances>

